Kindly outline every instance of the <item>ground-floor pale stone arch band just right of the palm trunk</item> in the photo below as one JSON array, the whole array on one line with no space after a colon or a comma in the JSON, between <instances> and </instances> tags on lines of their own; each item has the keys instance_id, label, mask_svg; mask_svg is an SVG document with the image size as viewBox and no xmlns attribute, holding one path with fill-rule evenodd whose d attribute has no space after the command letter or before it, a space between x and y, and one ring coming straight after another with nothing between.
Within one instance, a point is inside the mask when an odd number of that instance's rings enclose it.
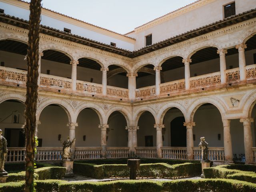
<instances>
[{"instance_id":1,"label":"ground-floor pale stone arch band just right of the palm trunk","mask_svg":"<svg viewBox=\"0 0 256 192\"><path fill-rule=\"evenodd\" d=\"M44 108L46 108L50 104L57 104L61 106L67 113L69 122L75 122L76 119L74 118L74 112L70 104L68 104L68 102L66 102L65 100L57 98L42 100L42 102L38 103L36 112L37 120L40 120L39 118L42 110L44 110Z\"/></svg>"}]
</instances>

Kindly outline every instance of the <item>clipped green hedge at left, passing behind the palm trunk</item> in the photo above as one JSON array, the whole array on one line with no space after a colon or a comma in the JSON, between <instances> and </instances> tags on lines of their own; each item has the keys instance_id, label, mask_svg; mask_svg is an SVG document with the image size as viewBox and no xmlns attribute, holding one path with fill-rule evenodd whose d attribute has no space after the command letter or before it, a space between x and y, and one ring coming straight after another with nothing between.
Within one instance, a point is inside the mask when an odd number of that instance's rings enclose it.
<instances>
[{"instance_id":1,"label":"clipped green hedge at left, passing behind the palm trunk","mask_svg":"<svg viewBox=\"0 0 256 192\"><path fill-rule=\"evenodd\" d=\"M35 169L34 178L39 180L60 179L65 176L65 173L65 167L42 167ZM9 177L6 179L6 182L18 182L25 180L25 171L10 173L8 175Z\"/></svg>"}]
</instances>

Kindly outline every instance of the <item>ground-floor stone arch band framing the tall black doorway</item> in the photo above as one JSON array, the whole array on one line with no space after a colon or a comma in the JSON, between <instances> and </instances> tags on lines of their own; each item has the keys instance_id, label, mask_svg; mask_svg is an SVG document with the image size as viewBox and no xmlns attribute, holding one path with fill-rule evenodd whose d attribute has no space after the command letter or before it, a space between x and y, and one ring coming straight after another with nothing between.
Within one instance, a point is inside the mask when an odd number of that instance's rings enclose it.
<instances>
[{"instance_id":1,"label":"ground-floor stone arch band framing the tall black doorway","mask_svg":"<svg viewBox=\"0 0 256 192\"><path fill-rule=\"evenodd\" d=\"M166 112L171 108L179 109L182 112L185 120L188 121L188 119L186 119L187 118L186 117L186 109L184 108L184 106L182 106L181 104L176 103L176 102L171 102L171 103L165 104L162 108L160 108L160 110L158 112L158 117L157 117L157 119L159 119L159 124L163 124L164 116L165 116Z\"/></svg>"}]
</instances>

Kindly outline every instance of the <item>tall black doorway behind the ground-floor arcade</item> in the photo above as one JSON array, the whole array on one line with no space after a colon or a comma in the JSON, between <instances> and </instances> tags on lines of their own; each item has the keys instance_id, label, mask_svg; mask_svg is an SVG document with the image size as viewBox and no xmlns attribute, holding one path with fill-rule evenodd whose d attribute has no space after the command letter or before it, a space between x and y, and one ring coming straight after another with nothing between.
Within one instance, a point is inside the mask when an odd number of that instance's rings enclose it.
<instances>
[{"instance_id":1,"label":"tall black doorway behind the ground-floor arcade","mask_svg":"<svg viewBox=\"0 0 256 192\"><path fill-rule=\"evenodd\" d=\"M187 146L187 130L183 126L184 117L176 117L171 121L171 146L186 147Z\"/></svg>"}]
</instances>

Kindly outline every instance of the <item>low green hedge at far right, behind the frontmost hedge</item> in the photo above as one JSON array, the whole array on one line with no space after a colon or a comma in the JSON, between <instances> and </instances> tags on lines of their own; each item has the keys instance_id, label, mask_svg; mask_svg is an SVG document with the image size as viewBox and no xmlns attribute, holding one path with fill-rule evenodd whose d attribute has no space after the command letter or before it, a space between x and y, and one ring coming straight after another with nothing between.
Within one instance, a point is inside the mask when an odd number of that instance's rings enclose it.
<instances>
[{"instance_id":1,"label":"low green hedge at far right, behind the frontmost hedge","mask_svg":"<svg viewBox=\"0 0 256 192\"><path fill-rule=\"evenodd\" d=\"M244 171L255 170L254 165L221 165L204 169L205 178L228 178L256 183L256 172ZM235 169L235 168L239 168Z\"/></svg>"}]
</instances>

